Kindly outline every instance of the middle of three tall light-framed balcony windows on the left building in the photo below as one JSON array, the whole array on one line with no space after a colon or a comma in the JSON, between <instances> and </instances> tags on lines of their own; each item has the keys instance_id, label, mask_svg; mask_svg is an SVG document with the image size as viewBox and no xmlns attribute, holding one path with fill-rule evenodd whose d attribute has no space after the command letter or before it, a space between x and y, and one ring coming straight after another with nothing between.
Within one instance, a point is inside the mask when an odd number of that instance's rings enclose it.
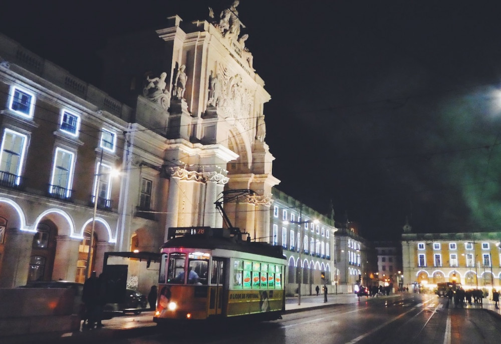
<instances>
[{"instance_id":1,"label":"middle of three tall light-framed balcony windows on the left building","mask_svg":"<svg viewBox=\"0 0 501 344\"><path fill-rule=\"evenodd\" d=\"M71 197L73 165L75 155L62 148L56 148L49 192L59 198Z\"/></svg>"}]
</instances>

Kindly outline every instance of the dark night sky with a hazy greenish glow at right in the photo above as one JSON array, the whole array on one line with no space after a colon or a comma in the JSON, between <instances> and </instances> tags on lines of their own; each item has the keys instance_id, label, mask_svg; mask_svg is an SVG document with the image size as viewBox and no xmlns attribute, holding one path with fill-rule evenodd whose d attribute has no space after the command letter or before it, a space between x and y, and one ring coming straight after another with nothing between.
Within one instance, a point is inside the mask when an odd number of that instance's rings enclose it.
<instances>
[{"instance_id":1,"label":"dark night sky with a hazy greenish glow at right","mask_svg":"<svg viewBox=\"0 0 501 344\"><path fill-rule=\"evenodd\" d=\"M227 1L10 2L0 32L99 87L108 36ZM33 3L33 4L30 4ZM77 3L77 2L75 2ZM241 0L280 190L368 239L501 227L501 5ZM48 5L50 4L50 5Z\"/></svg>"}]
</instances>

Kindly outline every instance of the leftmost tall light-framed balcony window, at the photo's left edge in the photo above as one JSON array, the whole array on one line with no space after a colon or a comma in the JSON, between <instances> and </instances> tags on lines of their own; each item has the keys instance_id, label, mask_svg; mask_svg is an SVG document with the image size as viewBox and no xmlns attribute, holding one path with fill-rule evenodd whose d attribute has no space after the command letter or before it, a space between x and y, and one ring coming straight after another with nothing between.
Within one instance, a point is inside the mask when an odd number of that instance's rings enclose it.
<instances>
[{"instance_id":1,"label":"leftmost tall light-framed balcony window, at the photo's left edge","mask_svg":"<svg viewBox=\"0 0 501 344\"><path fill-rule=\"evenodd\" d=\"M0 179L11 185L19 185L26 149L26 135L10 129L4 131L0 151Z\"/></svg>"}]
</instances>

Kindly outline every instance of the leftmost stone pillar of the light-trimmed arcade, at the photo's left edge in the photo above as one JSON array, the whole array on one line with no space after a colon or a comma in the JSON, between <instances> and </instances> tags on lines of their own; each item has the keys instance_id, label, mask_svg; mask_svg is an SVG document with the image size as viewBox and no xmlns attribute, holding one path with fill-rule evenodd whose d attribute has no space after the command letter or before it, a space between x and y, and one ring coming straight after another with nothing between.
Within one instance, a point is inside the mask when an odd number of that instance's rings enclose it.
<instances>
[{"instance_id":1,"label":"leftmost stone pillar of the light-trimmed arcade, at the photo's left edge","mask_svg":"<svg viewBox=\"0 0 501 344\"><path fill-rule=\"evenodd\" d=\"M6 231L0 288L25 285L28 280L33 232L9 228Z\"/></svg>"}]
</instances>

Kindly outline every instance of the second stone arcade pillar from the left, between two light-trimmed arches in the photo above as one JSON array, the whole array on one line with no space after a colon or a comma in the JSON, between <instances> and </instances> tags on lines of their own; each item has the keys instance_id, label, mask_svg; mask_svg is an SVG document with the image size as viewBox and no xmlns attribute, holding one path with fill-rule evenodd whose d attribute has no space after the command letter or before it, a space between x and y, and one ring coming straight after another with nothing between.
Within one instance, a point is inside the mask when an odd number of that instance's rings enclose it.
<instances>
[{"instance_id":1,"label":"second stone arcade pillar from the left, between two light-trimmed arches","mask_svg":"<svg viewBox=\"0 0 501 344\"><path fill-rule=\"evenodd\" d=\"M56 236L56 257L54 258L53 280L75 281L77 276L78 247L82 240L66 235Z\"/></svg>"}]
</instances>

